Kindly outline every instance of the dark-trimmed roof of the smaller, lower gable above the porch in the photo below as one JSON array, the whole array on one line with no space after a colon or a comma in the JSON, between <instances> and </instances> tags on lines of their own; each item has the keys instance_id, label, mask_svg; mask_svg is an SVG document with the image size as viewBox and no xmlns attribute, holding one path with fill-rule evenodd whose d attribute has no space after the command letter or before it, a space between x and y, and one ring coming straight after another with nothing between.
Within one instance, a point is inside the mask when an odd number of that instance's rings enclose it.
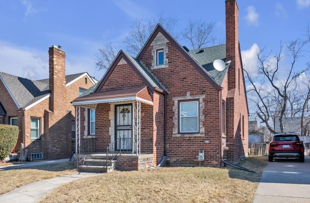
<instances>
[{"instance_id":1,"label":"dark-trimmed roof of the smaller, lower gable above the porch","mask_svg":"<svg viewBox=\"0 0 310 203\"><path fill-rule=\"evenodd\" d=\"M147 86L154 91L155 89L160 92L166 92L166 88L158 82L155 77L137 60L134 59L132 56L124 52L123 50L120 50L117 54L116 58L110 65L109 69L107 70L104 77L100 80L97 87L94 89L93 92L98 92L101 90L105 82L108 80L109 76L113 72L116 65L120 62L121 59L124 59L129 66L139 75L139 77L144 81Z\"/></svg>"}]
</instances>

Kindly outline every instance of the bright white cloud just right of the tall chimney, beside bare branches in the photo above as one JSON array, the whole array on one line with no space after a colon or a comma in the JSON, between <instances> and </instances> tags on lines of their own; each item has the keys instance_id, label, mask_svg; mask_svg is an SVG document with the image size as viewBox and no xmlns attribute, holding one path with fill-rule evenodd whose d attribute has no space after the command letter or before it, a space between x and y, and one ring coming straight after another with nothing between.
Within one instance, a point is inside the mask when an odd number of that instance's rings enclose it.
<instances>
[{"instance_id":1,"label":"bright white cloud just right of the tall chimney, beside bare branches","mask_svg":"<svg viewBox=\"0 0 310 203\"><path fill-rule=\"evenodd\" d=\"M241 51L243 67L251 77L257 76L257 53L260 47L256 43L248 50Z\"/></svg>"}]
</instances>

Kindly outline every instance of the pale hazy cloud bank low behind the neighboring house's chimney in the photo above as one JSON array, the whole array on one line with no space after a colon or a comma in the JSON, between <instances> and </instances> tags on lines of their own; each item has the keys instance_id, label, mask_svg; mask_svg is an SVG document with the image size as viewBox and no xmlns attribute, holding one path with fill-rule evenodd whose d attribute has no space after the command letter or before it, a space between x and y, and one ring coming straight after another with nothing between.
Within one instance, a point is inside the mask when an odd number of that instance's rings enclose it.
<instances>
[{"instance_id":1,"label":"pale hazy cloud bank low behind the neighboring house's chimney","mask_svg":"<svg viewBox=\"0 0 310 203\"><path fill-rule=\"evenodd\" d=\"M102 78L104 72L95 72L92 57L67 52L66 55L66 75L88 72L98 80ZM1 72L33 80L49 77L47 49L17 47L0 41L0 62Z\"/></svg>"}]
</instances>

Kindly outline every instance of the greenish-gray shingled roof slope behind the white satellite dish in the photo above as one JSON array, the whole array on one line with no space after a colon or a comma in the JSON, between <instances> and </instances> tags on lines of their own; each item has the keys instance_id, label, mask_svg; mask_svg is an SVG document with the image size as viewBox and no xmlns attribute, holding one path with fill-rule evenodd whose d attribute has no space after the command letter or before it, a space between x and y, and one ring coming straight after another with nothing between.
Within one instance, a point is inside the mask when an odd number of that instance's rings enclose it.
<instances>
[{"instance_id":1,"label":"greenish-gray shingled roof slope behind the white satellite dish","mask_svg":"<svg viewBox=\"0 0 310 203\"><path fill-rule=\"evenodd\" d=\"M203 52L200 51L203 49ZM228 70L229 64L223 71L217 71L213 67L216 59L226 62L226 45L218 45L214 47L200 48L189 50L188 53L204 68L207 73L217 82L218 85L223 83L223 79Z\"/></svg>"}]
</instances>

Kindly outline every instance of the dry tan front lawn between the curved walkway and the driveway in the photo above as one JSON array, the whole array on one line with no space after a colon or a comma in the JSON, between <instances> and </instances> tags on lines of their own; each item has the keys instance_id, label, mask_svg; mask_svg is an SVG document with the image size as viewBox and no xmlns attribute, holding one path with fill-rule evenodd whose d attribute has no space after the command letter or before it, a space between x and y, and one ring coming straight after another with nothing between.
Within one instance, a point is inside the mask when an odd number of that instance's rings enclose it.
<instances>
[{"instance_id":1,"label":"dry tan front lawn between the curved walkway and the driveway","mask_svg":"<svg viewBox=\"0 0 310 203\"><path fill-rule=\"evenodd\" d=\"M253 202L267 158L248 157L239 165L256 173L207 167L114 171L64 184L41 202Z\"/></svg>"}]
</instances>

